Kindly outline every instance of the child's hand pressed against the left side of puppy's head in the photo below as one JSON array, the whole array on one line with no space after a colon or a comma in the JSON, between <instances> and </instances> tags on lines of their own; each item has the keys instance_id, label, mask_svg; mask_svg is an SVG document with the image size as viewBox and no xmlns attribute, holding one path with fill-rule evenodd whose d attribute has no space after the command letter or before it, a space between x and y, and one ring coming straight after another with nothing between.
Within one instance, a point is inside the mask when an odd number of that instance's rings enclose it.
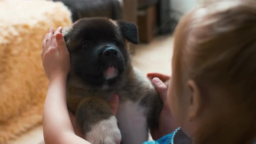
<instances>
[{"instance_id":1,"label":"child's hand pressed against the left side of puppy's head","mask_svg":"<svg viewBox=\"0 0 256 144\"><path fill-rule=\"evenodd\" d=\"M43 40L42 62L49 81L56 78L66 78L70 69L70 56L65 40L61 34L62 27L55 33L53 28L49 30Z\"/></svg>"}]
</instances>

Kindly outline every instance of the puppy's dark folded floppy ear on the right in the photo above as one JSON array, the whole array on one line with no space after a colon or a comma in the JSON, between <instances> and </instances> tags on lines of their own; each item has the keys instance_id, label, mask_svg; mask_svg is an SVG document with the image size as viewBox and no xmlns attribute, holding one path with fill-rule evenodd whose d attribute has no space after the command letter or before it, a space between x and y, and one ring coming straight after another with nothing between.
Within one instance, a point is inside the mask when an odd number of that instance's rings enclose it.
<instances>
[{"instance_id":1,"label":"puppy's dark folded floppy ear on the right","mask_svg":"<svg viewBox=\"0 0 256 144\"><path fill-rule=\"evenodd\" d=\"M133 44L139 43L138 28L134 23L118 21L122 36Z\"/></svg>"}]
</instances>

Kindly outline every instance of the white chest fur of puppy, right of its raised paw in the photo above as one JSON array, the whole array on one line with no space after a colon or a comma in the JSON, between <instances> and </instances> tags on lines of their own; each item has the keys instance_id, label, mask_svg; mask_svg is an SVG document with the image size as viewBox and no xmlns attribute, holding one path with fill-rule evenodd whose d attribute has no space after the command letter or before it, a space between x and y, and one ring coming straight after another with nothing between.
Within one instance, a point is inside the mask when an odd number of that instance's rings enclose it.
<instances>
[{"instance_id":1,"label":"white chest fur of puppy, right of its raised paw","mask_svg":"<svg viewBox=\"0 0 256 144\"><path fill-rule=\"evenodd\" d=\"M121 131L122 144L142 144L148 140L146 108L138 102L120 103L116 118Z\"/></svg>"}]
</instances>

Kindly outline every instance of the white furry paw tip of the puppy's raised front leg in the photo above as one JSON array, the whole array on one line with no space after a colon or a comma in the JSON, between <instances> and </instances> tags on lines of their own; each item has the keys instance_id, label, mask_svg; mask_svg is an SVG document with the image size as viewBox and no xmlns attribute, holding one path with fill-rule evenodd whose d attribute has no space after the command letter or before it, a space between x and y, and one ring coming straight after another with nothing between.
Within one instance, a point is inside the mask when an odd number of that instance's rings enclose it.
<instances>
[{"instance_id":1,"label":"white furry paw tip of the puppy's raised front leg","mask_svg":"<svg viewBox=\"0 0 256 144\"><path fill-rule=\"evenodd\" d=\"M92 130L85 135L85 139L92 144L120 144L121 132L115 116L92 126Z\"/></svg>"}]
</instances>

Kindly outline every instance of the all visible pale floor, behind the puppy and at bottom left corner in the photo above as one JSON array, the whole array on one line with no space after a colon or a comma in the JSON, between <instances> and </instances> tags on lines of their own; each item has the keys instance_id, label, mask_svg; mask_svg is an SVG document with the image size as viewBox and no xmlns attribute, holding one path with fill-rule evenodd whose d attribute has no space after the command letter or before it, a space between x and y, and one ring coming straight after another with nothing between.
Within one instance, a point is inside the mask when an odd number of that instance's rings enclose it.
<instances>
[{"instance_id":1,"label":"all visible pale floor, behind the puppy and at bottom left corner","mask_svg":"<svg viewBox=\"0 0 256 144\"><path fill-rule=\"evenodd\" d=\"M158 36L150 44L136 46L135 56L133 56L134 65L144 74L160 72L171 75L173 41L174 38L171 35ZM42 125L8 144L39 144L41 141L43 141Z\"/></svg>"}]
</instances>

